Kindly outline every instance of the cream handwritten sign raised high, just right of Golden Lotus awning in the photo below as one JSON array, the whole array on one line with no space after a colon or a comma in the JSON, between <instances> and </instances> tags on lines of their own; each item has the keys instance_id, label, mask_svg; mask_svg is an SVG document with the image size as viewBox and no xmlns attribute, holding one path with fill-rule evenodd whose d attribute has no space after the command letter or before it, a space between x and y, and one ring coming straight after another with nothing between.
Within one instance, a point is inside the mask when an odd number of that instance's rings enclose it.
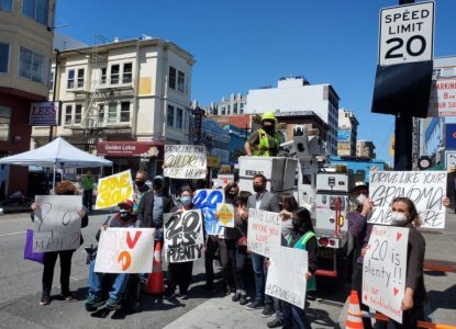
<instances>
[{"instance_id":1,"label":"cream handwritten sign raised high, just right of Golden Lotus awning","mask_svg":"<svg viewBox=\"0 0 456 329\"><path fill-rule=\"evenodd\" d=\"M204 179L205 146L165 145L164 175L175 179Z\"/></svg>"}]
</instances>

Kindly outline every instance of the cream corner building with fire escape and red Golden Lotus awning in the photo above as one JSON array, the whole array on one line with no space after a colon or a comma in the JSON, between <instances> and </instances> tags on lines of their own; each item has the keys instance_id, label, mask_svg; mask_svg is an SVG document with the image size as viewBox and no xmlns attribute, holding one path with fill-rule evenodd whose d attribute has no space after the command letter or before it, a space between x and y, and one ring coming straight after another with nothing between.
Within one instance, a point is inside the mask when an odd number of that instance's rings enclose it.
<instances>
[{"instance_id":1,"label":"cream corner building with fire escape and red Golden Lotus awning","mask_svg":"<svg viewBox=\"0 0 456 329\"><path fill-rule=\"evenodd\" d=\"M115 171L160 173L163 145L189 139L193 63L178 45L148 36L55 53L49 99L60 102L60 124L53 135L110 158ZM48 134L34 127L34 141Z\"/></svg>"}]
</instances>

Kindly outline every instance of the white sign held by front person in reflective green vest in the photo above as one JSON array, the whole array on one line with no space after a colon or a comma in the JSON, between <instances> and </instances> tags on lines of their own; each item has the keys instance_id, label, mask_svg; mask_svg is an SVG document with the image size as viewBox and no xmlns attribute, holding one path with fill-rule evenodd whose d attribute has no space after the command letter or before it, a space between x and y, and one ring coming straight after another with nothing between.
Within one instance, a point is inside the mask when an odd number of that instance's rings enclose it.
<instances>
[{"instance_id":1,"label":"white sign held by front person in reflective green vest","mask_svg":"<svg viewBox=\"0 0 456 329\"><path fill-rule=\"evenodd\" d=\"M265 293L303 309L308 252L297 248L273 248L269 263Z\"/></svg>"}]
</instances>

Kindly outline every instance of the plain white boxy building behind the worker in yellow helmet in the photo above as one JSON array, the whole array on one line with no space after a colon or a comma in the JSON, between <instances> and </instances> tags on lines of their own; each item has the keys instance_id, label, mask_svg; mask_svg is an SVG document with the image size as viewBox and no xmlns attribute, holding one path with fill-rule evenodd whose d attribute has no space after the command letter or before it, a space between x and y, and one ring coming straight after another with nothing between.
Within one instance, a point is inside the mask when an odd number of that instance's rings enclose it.
<instances>
[{"instance_id":1,"label":"plain white boxy building behind the worker in yellow helmet","mask_svg":"<svg viewBox=\"0 0 456 329\"><path fill-rule=\"evenodd\" d=\"M249 90L246 114L313 111L327 125L327 154L337 154L340 98L331 84L310 84L303 77L280 78L277 88Z\"/></svg>"}]
</instances>

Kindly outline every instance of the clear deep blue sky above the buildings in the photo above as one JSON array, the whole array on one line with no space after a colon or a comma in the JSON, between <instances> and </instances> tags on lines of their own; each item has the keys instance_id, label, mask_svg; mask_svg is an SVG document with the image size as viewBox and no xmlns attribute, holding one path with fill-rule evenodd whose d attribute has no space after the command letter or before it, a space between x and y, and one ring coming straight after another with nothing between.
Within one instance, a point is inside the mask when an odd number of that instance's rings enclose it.
<instances>
[{"instance_id":1,"label":"clear deep blue sky above the buildings","mask_svg":"<svg viewBox=\"0 0 456 329\"><path fill-rule=\"evenodd\" d=\"M191 99L207 105L231 93L277 87L281 77L330 83L355 112L358 139L392 163L392 115L370 112L379 11L399 0L57 0L59 32L94 44L143 34L191 53ZM421 2L421 1L415 1ZM434 57L456 55L456 0L435 1Z\"/></svg>"}]
</instances>

